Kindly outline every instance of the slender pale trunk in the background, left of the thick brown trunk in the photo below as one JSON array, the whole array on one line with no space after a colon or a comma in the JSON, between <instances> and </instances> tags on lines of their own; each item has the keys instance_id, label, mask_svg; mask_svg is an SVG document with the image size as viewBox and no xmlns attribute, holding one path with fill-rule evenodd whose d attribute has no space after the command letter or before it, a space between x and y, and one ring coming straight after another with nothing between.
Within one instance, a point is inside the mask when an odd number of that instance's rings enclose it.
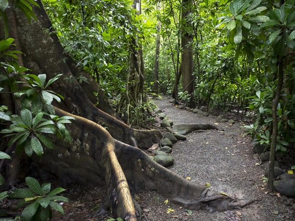
<instances>
[{"instance_id":1,"label":"slender pale trunk in the background, left of the thick brown trunk","mask_svg":"<svg viewBox=\"0 0 295 221\"><path fill-rule=\"evenodd\" d=\"M161 5L157 3L157 11L161 10ZM160 35L161 21L158 20L157 38L156 38L156 52L155 52L155 71L154 71L154 93L159 93L159 54L160 54Z\"/></svg>"}]
</instances>

